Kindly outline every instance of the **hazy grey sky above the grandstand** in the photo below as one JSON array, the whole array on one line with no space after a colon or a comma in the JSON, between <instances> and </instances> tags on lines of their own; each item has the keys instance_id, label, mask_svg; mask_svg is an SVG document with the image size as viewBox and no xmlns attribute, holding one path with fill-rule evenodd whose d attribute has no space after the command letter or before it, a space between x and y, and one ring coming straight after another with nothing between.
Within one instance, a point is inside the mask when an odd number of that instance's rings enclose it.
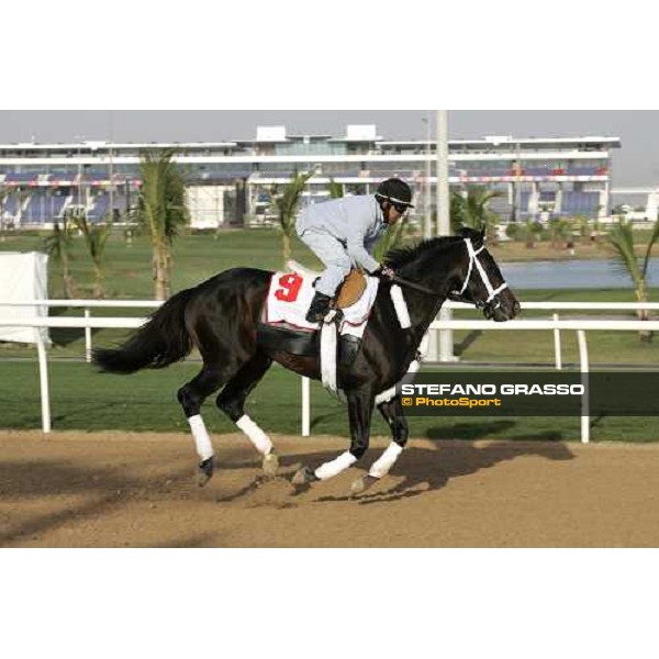
<instances>
[{"instance_id":1,"label":"hazy grey sky above the grandstand","mask_svg":"<svg viewBox=\"0 0 659 659\"><path fill-rule=\"evenodd\" d=\"M253 138L257 125L286 125L289 134L342 135L349 123L376 124L384 138L425 138L426 110L2 110L0 142L115 142ZM614 187L659 187L658 110L455 110L450 138L513 135L619 137ZM433 127L434 137L434 127Z\"/></svg>"}]
</instances>

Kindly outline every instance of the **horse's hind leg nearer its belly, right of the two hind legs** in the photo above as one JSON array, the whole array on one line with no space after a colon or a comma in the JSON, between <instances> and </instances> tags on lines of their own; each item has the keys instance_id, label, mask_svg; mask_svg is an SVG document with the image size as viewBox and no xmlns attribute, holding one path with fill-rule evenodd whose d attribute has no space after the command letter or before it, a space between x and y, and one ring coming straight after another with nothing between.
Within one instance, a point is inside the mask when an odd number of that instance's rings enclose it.
<instances>
[{"instance_id":1,"label":"horse's hind leg nearer its belly, right of the two hind legs","mask_svg":"<svg viewBox=\"0 0 659 659\"><path fill-rule=\"evenodd\" d=\"M242 431L249 442L264 456L263 468L266 476L275 476L279 467L272 450L272 442L264 431L245 414L245 400L270 368L272 359L256 353L241 370L226 383L217 396L217 407L222 410Z\"/></svg>"}]
</instances>

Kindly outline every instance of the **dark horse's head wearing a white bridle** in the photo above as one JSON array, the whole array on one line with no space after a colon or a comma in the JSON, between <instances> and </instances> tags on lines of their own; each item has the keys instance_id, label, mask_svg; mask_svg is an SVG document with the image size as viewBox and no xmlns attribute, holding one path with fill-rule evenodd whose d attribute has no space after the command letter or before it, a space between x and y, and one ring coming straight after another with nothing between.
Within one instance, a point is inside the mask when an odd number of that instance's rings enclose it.
<instances>
[{"instance_id":1,"label":"dark horse's head wearing a white bridle","mask_svg":"<svg viewBox=\"0 0 659 659\"><path fill-rule=\"evenodd\" d=\"M487 319L510 321L520 313L520 302L507 288L496 261L484 245L485 232L463 228L465 265L458 288L450 300L476 304Z\"/></svg>"}]
</instances>

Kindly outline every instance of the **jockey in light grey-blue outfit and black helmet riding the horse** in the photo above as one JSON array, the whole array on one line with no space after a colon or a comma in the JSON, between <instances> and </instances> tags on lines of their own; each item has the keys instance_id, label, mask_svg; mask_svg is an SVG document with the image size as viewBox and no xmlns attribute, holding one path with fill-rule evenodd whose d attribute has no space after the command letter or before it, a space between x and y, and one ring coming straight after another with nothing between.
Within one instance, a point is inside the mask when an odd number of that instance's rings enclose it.
<instances>
[{"instance_id":1,"label":"jockey in light grey-blue outfit and black helmet riding the horse","mask_svg":"<svg viewBox=\"0 0 659 659\"><path fill-rule=\"evenodd\" d=\"M387 228L414 208L411 201L410 186L391 178L382 181L375 194L333 199L300 213L295 223L298 236L326 268L314 284L308 322L317 323L325 317L336 289L353 266L360 266L370 275L394 278L393 270L380 265L371 254Z\"/></svg>"}]
</instances>

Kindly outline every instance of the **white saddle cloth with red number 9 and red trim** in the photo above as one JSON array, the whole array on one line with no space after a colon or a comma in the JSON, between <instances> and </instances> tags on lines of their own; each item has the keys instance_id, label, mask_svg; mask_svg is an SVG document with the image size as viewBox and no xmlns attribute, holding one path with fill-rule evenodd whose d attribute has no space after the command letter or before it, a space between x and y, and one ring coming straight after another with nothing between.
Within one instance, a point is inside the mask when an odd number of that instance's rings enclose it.
<instances>
[{"instance_id":1,"label":"white saddle cloth with red number 9 and red trim","mask_svg":"<svg viewBox=\"0 0 659 659\"><path fill-rule=\"evenodd\" d=\"M298 272L275 272L264 305L263 322L267 325L288 326L292 330L314 332L319 323L309 323L304 316L315 293L314 277L302 276ZM378 294L379 280L366 278L364 294L349 306L343 309L344 317L339 334L351 334L361 338L371 306Z\"/></svg>"}]
</instances>

